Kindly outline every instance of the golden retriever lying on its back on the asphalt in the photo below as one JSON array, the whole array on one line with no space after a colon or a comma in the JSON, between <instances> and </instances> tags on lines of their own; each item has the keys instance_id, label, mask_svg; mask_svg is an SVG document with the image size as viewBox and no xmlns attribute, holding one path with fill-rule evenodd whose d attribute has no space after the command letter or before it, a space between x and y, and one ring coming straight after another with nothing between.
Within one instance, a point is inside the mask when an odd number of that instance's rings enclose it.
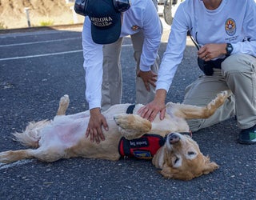
<instances>
[{"instance_id":1,"label":"golden retriever lying on its back on the asphalt","mask_svg":"<svg viewBox=\"0 0 256 200\"><path fill-rule=\"evenodd\" d=\"M202 107L168 102L166 117L160 120L157 116L153 122L137 114L142 107L140 104L134 106L133 114L126 114L130 104L111 106L103 112L109 125L108 131L103 129L106 140L97 144L85 137L90 112L65 115L70 100L68 95L64 95L53 120L30 122L25 131L14 134L14 140L32 148L2 152L0 162L10 163L26 158L54 162L75 157L117 161L122 156L118 150L122 138L136 142L136 138L152 134L165 138L162 146L152 155L152 162L162 176L190 180L212 172L218 165L202 154L197 142L189 135L181 134L190 131L186 119L209 118L228 96L229 92L223 91Z\"/></svg>"}]
</instances>

